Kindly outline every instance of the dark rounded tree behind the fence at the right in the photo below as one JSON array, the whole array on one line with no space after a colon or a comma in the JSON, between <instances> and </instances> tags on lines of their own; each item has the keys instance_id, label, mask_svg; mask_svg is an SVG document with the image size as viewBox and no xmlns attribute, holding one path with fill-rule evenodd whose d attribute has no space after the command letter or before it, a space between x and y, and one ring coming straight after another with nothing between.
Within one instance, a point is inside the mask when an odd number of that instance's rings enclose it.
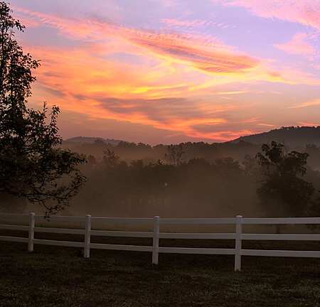
<instances>
[{"instance_id":1,"label":"dark rounded tree behind the fence at the right","mask_svg":"<svg viewBox=\"0 0 320 307\"><path fill-rule=\"evenodd\" d=\"M287 152L283 144L272 141L262 145L264 154L258 153L257 162L262 168L262 181L257 195L270 215L303 216L314 193L312 183L304 181L308 154Z\"/></svg>"}]
</instances>

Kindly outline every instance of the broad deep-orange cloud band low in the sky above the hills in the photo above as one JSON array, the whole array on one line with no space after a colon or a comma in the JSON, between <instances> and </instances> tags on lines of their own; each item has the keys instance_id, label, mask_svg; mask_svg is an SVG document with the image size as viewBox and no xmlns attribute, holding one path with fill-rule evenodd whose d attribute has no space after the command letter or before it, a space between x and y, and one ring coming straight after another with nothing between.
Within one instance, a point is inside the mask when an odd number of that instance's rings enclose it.
<instances>
[{"instance_id":1,"label":"broad deep-orange cloud band low in the sky above the hills","mask_svg":"<svg viewBox=\"0 0 320 307\"><path fill-rule=\"evenodd\" d=\"M190 85L177 84L170 76L161 80L154 75L153 80L148 67L132 70L126 63L120 65L92 57L90 49L81 52L78 48L35 49L31 54L43 58L41 68L36 70L39 102L42 95L63 110L87 114L90 118L143 124L198 139L228 141L243 133L250 134L245 129L239 129L239 134L230 132L228 126L235 123L226 119L229 112L237 112L245 105L191 98ZM250 90L218 92L219 95L242 93ZM188 95L191 97L187 98ZM250 122L257 119L242 121ZM216 131L218 126L225 129Z\"/></svg>"}]
</instances>

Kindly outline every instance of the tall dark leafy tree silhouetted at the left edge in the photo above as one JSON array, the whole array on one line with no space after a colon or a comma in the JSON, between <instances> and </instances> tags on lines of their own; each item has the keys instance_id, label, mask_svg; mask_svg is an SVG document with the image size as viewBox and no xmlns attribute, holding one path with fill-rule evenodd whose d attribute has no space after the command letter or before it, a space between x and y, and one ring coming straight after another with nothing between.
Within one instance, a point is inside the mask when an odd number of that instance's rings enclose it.
<instances>
[{"instance_id":1,"label":"tall dark leafy tree silhouetted at the left edge","mask_svg":"<svg viewBox=\"0 0 320 307\"><path fill-rule=\"evenodd\" d=\"M39 203L48 216L69 205L85 183L76 167L85 158L58 147L58 107L49 118L46 102L42 111L26 107L39 63L14 40L14 28L24 26L10 14L0 2L0 193Z\"/></svg>"}]
</instances>

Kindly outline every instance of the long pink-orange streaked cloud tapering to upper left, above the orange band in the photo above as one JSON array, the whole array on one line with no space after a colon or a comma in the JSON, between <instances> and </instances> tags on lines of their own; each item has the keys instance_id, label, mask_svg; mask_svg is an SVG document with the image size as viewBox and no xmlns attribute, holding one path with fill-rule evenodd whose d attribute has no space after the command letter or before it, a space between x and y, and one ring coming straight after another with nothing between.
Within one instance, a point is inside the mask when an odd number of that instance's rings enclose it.
<instances>
[{"instance_id":1,"label":"long pink-orange streaked cloud tapering to upper left, above the orange band","mask_svg":"<svg viewBox=\"0 0 320 307\"><path fill-rule=\"evenodd\" d=\"M102 35L104 38L124 40L151 51L159 59L169 57L181 60L182 63L207 73L242 73L255 68L259 63L259 60L239 54L234 48L215 38L140 31L97 20L72 18L67 20L38 12L32 13L26 10L20 12L31 15L33 22L58 29L60 34L72 40L96 41L101 40ZM206 21L196 23L200 25Z\"/></svg>"}]
</instances>

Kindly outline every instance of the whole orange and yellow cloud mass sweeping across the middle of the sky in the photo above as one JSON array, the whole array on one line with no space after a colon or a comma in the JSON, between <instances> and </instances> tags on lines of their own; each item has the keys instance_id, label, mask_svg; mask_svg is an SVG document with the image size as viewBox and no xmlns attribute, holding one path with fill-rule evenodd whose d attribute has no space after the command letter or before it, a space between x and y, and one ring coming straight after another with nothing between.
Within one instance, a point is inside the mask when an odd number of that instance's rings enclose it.
<instances>
[{"instance_id":1,"label":"whole orange and yellow cloud mass sweeping across the middle of the sky","mask_svg":"<svg viewBox=\"0 0 320 307\"><path fill-rule=\"evenodd\" d=\"M247 88L250 82L318 82L311 74L272 68L266 60L240 53L218 38L142 31L95 18L20 13L30 16L34 27L54 28L73 41L33 48L26 43L33 58L42 60L36 70L33 101L41 104L47 99L65 111L85 114L91 122L112 119L198 139L228 141L252 134L244 128L247 124L266 125L258 123L245 102L250 93L260 92ZM235 88L235 82L241 85ZM217 92L218 85L228 86ZM222 102L213 95L235 95L235 99L227 101L229 97L224 96ZM241 117L240 109L242 119L235 120ZM243 119L243 112L250 112L245 114L249 119Z\"/></svg>"}]
</instances>

